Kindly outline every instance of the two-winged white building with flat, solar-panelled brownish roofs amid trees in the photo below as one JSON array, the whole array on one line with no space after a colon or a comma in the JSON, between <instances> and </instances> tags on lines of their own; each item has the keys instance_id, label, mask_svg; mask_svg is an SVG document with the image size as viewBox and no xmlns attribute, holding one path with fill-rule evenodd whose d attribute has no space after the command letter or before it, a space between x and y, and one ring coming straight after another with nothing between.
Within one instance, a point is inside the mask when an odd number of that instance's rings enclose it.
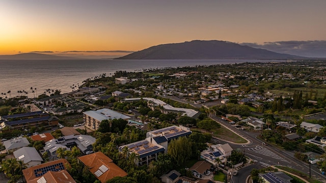
<instances>
[{"instance_id":1,"label":"two-winged white building with flat, solar-panelled brownish roofs amid trees","mask_svg":"<svg viewBox=\"0 0 326 183\"><path fill-rule=\"evenodd\" d=\"M128 149L127 157L132 153L139 156L134 162L137 166L148 165L157 160L159 153L168 153L168 144L172 139L192 134L189 128L172 126L146 133L146 139L119 147L119 152L124 153Z\"/></svg>"}]
</instances>

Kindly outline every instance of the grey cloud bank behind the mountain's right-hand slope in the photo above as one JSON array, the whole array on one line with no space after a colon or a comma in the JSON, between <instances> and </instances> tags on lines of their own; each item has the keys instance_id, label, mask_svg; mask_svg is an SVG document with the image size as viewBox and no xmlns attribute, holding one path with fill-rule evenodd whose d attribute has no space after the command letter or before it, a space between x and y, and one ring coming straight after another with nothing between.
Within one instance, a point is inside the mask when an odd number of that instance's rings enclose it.
<instances>
[{"instance_id":1,"label":"grey cloud bank behind the mountain's right-hand slope","mask_svg":"<svg viewBox=\"0 0 326 183\"><path fill-rule=\"evenodd\" d=\"M253 48L262 48L278 53L286 53L306 57L326 58L326 41L277 41L257 43L240 43Z\"/></svg>"}]
</instances>

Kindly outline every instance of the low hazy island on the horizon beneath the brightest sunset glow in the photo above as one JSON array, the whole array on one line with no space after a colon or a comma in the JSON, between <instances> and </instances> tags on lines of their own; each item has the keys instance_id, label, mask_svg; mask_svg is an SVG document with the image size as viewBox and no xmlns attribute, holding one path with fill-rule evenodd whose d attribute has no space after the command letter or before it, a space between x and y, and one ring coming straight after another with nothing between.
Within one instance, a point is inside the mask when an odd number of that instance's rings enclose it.
<instances>
[{"instance_id":1,"label":"low hazy island on the horizon beneath the brightest sunset glow","mask_svg":"<svg viewBox=\"0 0 326 183\"><path fill-rule=\"evenodd\" d=\"M14 55L0 55L0 59L80 59L68 56L56 56L42 53L19 53Z\"/></svg>"}]
</instances>

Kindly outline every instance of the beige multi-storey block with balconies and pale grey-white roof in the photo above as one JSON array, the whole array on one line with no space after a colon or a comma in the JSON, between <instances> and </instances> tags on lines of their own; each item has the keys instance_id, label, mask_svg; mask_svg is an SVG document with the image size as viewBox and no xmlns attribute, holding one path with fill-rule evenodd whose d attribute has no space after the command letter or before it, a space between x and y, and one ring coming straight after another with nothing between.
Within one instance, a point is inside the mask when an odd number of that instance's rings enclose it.
<instances>
[{"instance_id":1,"label":"beige multi-storey block with balconies and pale grey-white roof","mask_svg":"<svg viewBox=\"0 0 326 183\"><path fill-rule=\"evenodd\" d=\"M120 118L125 120L130 119L130 117L127 115L106 108L99 109L96 111L94 110L86 111L83 112L83 114L84 114L85 127L94 131L98 130L102 120L120 119Z\"/></svg>"}]
</instances>

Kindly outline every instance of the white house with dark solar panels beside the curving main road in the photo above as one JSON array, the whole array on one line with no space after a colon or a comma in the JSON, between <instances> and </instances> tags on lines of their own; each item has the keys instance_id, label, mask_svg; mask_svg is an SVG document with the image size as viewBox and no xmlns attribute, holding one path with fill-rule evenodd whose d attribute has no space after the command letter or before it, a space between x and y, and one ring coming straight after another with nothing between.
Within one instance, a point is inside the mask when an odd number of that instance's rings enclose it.
<instances>
[{"instance_id":1,"label":"white house with dark solar panels beside the curving main road","mask_svg":"<svg viewBox=\"0 0 326 183\"><path fill-rule=\"evenodd\" d=\"M200 158L217 166L220 163L225 164L227 162L227 158L231 156L232 150L232 147L228 143L223 145L210 145L207 150L202 151ZM217 158L219 158L220 162L216 162Z\"/></svg>"}]
</instances>

